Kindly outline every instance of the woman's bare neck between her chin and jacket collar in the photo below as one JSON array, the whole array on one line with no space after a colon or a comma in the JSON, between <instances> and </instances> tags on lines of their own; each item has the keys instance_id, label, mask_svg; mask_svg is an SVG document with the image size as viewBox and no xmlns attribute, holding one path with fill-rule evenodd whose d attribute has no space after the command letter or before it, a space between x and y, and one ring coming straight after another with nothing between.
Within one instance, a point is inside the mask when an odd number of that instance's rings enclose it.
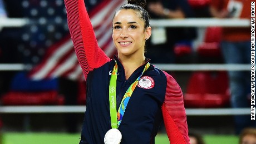
<instances>
[{"instance_id":1,"label":"woman's bare neck between her chin and jacket collar","mask_svg":"<svg viewBox=\"0 0 256 144\"><path fill-rule=\"evenodd\" d=\"M125 68L125 78L126 80L131 76L131 74L142 64L145 63L145 56L132 57L132 56L119 56L122 65Z\"/></svg>"}]
</instances>

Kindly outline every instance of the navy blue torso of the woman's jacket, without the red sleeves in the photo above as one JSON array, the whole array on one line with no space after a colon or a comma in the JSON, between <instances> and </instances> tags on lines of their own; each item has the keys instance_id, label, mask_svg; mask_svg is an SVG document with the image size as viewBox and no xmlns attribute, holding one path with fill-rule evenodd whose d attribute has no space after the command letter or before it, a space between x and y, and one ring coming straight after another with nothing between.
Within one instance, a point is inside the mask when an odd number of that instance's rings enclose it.
<instances>
[{"instance_id":1,"label":"navy blue torso of the woman's jacket, without the red sleeves","mask_svg":"<svg viewBox=\"0 0 256 144\"><path fill-rule=\"evenodd\" d=\"M139 77L146 63L132 73L128 80L125 80L124 67L118 58L115 57L115 59L119 74L116 85L116 101L117 107L119 107L126 90ZM115 61L112 60L88 73L86 112L81 135L83 141L81 143L102 143L105 133L111 129L109 72L112 71L114 64ZM138 86L135 88L118 128L122 133L122 143L154 143L154 138L162 120L161 106L164 102L166 90L165 74L151 65L143 76L150 76L157 85L150 89ZM93 133L98 133L98 135L94 136ZM90 140L87 140L87 138L90 138Z\"/></svg>"}]
</instances>

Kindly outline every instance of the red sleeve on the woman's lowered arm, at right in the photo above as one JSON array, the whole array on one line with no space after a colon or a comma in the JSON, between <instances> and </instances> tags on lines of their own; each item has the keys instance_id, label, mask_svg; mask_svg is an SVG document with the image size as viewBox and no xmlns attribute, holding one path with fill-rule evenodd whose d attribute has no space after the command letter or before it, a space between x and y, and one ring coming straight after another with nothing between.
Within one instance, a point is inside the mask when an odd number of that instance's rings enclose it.
<instances>
[{"instance_id":1,"label":"red sleeve on the woman's lowered arm, at right","mask_svg":"<svg viewBox=\"0 0 256 144\"><path fill-rule=\"evenodd\" d=\"M168 73L165 100L162 106L166 133L170 143L189 143L188 124L180 86Z\"/></svg>"}]
</instances>

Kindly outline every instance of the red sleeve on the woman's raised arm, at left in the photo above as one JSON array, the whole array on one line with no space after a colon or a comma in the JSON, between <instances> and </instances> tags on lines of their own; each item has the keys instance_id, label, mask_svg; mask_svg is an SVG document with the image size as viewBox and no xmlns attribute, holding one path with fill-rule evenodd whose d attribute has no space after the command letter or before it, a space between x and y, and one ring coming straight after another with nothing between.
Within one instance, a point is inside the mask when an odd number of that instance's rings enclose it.
<instances>
[{"instance_id":1,"label":"red sleeve on the woman's raised arm, at left","mask_svg":"<svg viewBox=\"0 0 256 144\"><path fill-rule=\"evenodd\" d=\"M64 2L68 28L86 80L88 72L109 62L110 58L98 46L85 2L83 0L65 0Z\"/></svg>"}]
</instances>

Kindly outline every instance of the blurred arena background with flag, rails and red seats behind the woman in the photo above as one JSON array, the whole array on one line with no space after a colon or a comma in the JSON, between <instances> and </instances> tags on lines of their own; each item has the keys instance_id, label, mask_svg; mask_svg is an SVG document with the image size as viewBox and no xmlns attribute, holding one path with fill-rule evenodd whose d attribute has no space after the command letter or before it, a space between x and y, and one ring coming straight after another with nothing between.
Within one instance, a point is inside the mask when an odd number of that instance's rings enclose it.
<instances>
[{"instance_id":1,"label":"blurred arena background with flag, rails and red seats behind the woman","mask_svg":"<svg viewBox=\"0 0 256 144\"><path fill-rule=\"evenodd\" d=\"M256 127L250 121L250 1L146 2L152 36L145 55L179 83L189 132L205 143L238 143L245 127ZM124 3L85 0L110 58L116 54L112 7ZM86 83L63 1L0 0L0 30L0 144L78 143ZM156 143L169 143L164 125Z\"/></svg>"}]
</instances>

